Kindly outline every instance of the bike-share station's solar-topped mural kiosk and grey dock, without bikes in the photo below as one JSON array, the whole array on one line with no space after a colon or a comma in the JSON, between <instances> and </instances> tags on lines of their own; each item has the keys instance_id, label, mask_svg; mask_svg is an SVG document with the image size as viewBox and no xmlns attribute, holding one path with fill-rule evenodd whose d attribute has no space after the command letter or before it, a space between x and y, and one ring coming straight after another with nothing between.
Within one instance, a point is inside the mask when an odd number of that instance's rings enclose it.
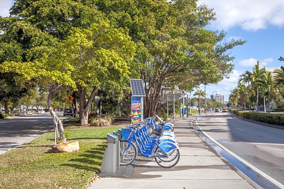
<instances>
[{"instance_id":1,"label":"bike-share station's solar-topped mural kiosk and grey dock, without bikes","mask_svg":"<svg viewBox=\"0 0 284 189\"><path fill-rule=\"evenodd\" d=\"M140 117L135 116L135 122L143 120L143 97L146 96L143 82L141 79L130 79L131 85L131 109L135 109L140 113ZM137 120L136 118L139 117ZM131 117L131 123L133 119ZM107 134L107 148L105 149L102 159L100 177L130 177L135 165L139 160L139 156L130 164L120 166L120 141L123 135L122 129Z\"/></svg>"}]
</instances>

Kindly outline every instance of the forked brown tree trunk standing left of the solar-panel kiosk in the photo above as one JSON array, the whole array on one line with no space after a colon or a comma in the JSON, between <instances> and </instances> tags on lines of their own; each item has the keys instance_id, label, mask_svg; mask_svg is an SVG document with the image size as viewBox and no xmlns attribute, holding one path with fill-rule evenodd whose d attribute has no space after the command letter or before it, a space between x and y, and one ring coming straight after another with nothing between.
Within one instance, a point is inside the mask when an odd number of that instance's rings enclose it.
<instances>
[{"instance_id":1,"label":"forked brown tree trunk standing left of the solar-panel kiosk","mask_svg":"<svg viewBox=\"0 0 284 189\"><path fill-rule=\"evenodd\" d=\"M89 108L94 99L95 94L98 92L98 88L94 87L91 95L89 96L88 102L86 102L86 90L81 86L78 87L79 91L79 112L80 112L80 125L89 126Z\"/></svg>"}]
</instances>

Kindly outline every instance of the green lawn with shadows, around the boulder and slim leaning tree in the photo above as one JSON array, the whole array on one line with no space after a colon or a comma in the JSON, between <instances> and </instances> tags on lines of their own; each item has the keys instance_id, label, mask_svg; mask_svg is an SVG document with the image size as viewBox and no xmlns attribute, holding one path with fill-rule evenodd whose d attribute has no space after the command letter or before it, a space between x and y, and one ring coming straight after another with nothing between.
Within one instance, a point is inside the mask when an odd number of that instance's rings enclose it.
<instances>
[{"instance_id":1,"label":"green lawn with shadows, around the boulder and slim leaning tree","mask_svg":"<svg viewBox=\"0 0 284 189\"><path fill-rule=\"evenodd\" d=\"M86 188L101 169L106 134L121 127L66 129L68 142L80 150L52 153L54 133L0 155L0 188Z\"/></svg>"}]
</instances>

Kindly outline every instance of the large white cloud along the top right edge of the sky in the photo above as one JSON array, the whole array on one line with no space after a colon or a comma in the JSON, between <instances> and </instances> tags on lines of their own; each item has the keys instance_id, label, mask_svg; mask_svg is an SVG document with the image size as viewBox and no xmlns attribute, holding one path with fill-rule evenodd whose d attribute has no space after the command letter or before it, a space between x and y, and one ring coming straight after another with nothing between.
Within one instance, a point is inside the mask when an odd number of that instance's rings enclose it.
<instances>
[{"instance_id":1,"label":"large white cloud along the top right edge of the sky","mask_svg":"<svg viewBox=\"0 0 284 189\"><path fill-rule=\"evenodd\" d=\"M213 8L217 20L212 26L228 30L240 26L244 30L265 29L269 25L282 27L284 25L283 0L199 0L208 8Z\"/></svg>"}]
</instances>

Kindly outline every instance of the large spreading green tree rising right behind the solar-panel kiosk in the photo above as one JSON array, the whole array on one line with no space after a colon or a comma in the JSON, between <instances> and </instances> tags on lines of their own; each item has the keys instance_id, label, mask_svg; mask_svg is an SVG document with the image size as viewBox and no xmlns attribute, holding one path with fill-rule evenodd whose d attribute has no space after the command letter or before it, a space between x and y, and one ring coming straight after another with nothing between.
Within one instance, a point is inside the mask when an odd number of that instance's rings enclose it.
<instances>
[{"instance_id":1,"label":"large spreading green tree rising right behind the solar-panel kiosk","mask_svg":"<svg viewBox=\"0 0 284 189\"><path fill-rule=\"evenodd\" d=\"M185 83L218 83L233 69L226 53L242 40L222 43L226 33L206 30L212 9L196 0L99 1L98 10L137 43L133 70L144 81L145 117L153 116L162 86L189 89ZM229 63L228 63L229 62ZM138 71L140 70L140 71ZM136 75L135 75L136 76Z\"/></svg>"}]
</instances>

